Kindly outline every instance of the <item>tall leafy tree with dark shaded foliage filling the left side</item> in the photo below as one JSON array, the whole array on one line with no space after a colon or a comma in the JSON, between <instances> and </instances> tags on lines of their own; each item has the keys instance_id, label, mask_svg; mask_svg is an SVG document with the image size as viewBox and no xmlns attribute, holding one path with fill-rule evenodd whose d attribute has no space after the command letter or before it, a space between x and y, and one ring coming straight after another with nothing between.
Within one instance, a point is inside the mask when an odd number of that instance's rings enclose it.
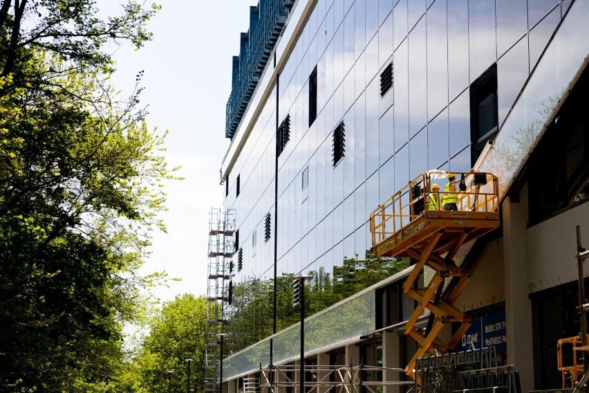
<instances>
[{"instance_id":1,"label":"tall leafy tree with dark shaded foliage filling the left side","mask_svg":"<svg viewBox=\"0 0 589 393\"><path fill-rule=\"evenodd\" d=\"M109 86L104 47L140 47L158 7L104 20L91 0L0 7L0 390L120 390L122 325L163 277L137 269L174 170L139 80L129 100Z\"/></svg>"}]
</instances>

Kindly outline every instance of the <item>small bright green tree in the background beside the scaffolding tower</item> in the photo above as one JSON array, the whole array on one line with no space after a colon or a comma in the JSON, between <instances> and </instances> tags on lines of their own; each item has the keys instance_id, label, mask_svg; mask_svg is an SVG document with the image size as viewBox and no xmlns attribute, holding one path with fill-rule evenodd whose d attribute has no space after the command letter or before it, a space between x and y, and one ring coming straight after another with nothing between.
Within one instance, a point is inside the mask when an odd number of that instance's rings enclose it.
<instances>
[{"instance_id":1,"label":"small bright green tree in the background beside the scaffolding tower","mask_svg":"<svg viewBox=\"0 0 589 393\"><path fill-rule=\"evenodd\" d=\"M187 363L192 359L190 385L195 391L205 380L205 331L207 326L207 300L185 294L166 302L149 324L138 358L135 392L167 392L168 375L174 392L187 386Z\"/></svg>"}]
</instances>

